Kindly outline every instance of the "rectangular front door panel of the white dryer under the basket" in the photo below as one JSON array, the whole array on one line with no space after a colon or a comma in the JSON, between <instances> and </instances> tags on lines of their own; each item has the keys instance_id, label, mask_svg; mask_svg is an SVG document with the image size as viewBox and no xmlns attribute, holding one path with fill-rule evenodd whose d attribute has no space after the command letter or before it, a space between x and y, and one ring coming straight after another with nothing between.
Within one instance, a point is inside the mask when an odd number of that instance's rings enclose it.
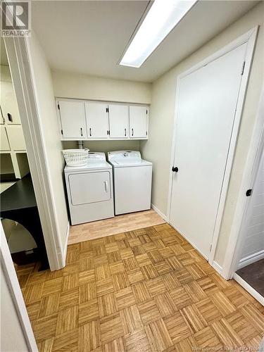
<instances>
[{"instance_id":1,"label":"rectangular front door panel of the white dryer under the basket","mask_svg":"<svg viewBox=\"0 0 264 352\"><path fill-rule=\"evenodd\" d=\"M111 199L110 172L85 172L68 177L73 206Z\"/></svg>"}]
</instances>

